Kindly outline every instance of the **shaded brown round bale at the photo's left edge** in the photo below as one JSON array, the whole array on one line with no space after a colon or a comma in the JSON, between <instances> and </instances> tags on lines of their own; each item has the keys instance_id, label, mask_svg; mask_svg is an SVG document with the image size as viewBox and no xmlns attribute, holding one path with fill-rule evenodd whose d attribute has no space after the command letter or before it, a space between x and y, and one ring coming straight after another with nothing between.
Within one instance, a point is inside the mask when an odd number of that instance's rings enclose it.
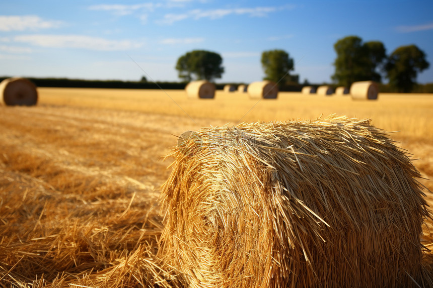
<instances>
[{"instance_id":1,"label":"shaded brown round bale at the photo's left edge","mask_svg":"<svg viewBox=\"0 0 433 288\"><path fill-rule=\"evenodd\" d=\"M13 77L0 83L1 99L8 106L33 106L38 103L38 91L31 81Z\"/></svg>"}]
</instances>

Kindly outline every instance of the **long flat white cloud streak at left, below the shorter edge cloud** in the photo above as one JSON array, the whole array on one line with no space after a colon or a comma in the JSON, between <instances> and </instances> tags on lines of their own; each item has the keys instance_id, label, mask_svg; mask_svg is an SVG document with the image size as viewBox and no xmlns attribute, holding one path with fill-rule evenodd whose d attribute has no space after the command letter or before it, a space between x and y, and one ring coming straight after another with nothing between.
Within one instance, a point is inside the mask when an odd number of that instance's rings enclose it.
<instances>
[{"instance_id":1,"label":"long flat white cloud streak at left, below the shorter edge cloud","mask_svg":"<svg viewBox=\"0 0 433 288\"><path fill-rule=\"evenodd\" d=\"M79 48L96 51L120 51L140 48L143 43L131 40L108 40L83 35L21 35L16 42L49 48Z\"/></svg>"}]
</instances>

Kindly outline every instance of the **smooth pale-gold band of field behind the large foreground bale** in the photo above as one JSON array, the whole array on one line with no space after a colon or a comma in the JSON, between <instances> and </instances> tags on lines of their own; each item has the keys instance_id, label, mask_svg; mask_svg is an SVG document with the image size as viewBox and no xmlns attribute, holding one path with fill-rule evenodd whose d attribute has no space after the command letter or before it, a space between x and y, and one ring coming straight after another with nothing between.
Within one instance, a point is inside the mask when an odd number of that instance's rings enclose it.
<instances>
[{"instance_id":1,"label":"smooth pale-gold band of field behind the large foreground bale","mask_svg":"<svg viewBox=\"0 0 433 288\"><path fill-rule=\"evenodd\" d=\"M279 92L278 100L252 100L247 93L217 90L215 99L188 99L183 90L39 88L41 104L68 105L142 111L152 114L205 118L229 124L255 121L316 119L337 114L372 119L386 131L400 131L398 137L433 139L430 94L381 93L377 101L352 101L347 96L323 97L317 94ZM172 101L176 102L176 104ZM253 108L254 107L254 108ZM253 109L251 109L253 108ZM251 109L251 110L250 110Z\"/></svg>"}]
</instances>

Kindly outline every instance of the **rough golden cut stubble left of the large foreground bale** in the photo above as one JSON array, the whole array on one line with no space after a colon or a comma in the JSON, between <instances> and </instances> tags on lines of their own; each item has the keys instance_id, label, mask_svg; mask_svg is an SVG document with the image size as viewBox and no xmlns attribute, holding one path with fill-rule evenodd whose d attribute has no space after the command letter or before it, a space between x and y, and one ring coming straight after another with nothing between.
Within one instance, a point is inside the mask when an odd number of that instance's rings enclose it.
<instances>
[{"instance_id":1,"label":"rough golden cut stubble left of the large foreground bale","mask_svg":"<svg viewBox=\"0 0 433 288\"><path fill-rule=\"evenodd\" d=\"M158 155L175 138L143 115L95 112L2 108L0 286L168 285Z\"/></svg>"}]
</instances>

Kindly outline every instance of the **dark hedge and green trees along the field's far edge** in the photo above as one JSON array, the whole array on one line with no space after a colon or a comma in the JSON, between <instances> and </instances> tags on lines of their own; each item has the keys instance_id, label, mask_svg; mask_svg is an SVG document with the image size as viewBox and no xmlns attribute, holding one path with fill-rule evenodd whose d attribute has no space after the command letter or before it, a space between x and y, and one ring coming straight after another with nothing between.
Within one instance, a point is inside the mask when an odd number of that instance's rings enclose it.
<instances>
[{"instance_id":1,"label":"dark hedge and green trees along the field's far edge","mask_svg":"<svg viewBox=\"0 0 433 288\"><path fill-rule=\"evenodd\" d=\"M389 84L381 84L386 92L428 92L433 93L433 83L417 85L419 72L427 69L429 63L425 53L416 45L401 46L387 55L385 45L380 41L363 42L358 36L347 36L334 44L337 54L331 76L333 86L349 87L355 81L374 80L382 83L387 78ZM278 83L281 91L300 91L309 85L308 80L299 83L299 75L291 74L295 69L294 59L281 49L263 51L261 66L265 80ZM28 78L37 86L44 87L93 87L93 88L135 88L135 89L183 89L191 80L212 81L221 78L225 69L219 53L206 50L193 50L180 56L176 70L182 82L148 82L143 76L139 81L84 80L68 78ZM0 77L3 80L8 77ZM228 83L240 84L240 83ZM224 83L216 84L218 89Z\"/></svg>"}]
</instances>

